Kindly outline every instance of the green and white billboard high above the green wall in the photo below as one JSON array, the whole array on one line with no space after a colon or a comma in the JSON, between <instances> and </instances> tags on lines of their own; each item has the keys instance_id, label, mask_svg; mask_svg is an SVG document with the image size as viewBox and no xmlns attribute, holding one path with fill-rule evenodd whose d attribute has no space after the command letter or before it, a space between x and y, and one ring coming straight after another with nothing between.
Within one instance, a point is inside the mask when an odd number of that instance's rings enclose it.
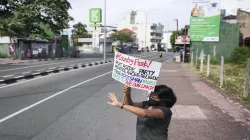
<instances>
[{"instance_id":1,"label":"green and white billboard high above the green wall","mask_svg":"<svg viewBox=\"0 0 250 140\"><path fill-rule=\"evenodd\" d=\"M190 40L218 42L221 0L192 0Z\"/></svg>"}]
</instances>

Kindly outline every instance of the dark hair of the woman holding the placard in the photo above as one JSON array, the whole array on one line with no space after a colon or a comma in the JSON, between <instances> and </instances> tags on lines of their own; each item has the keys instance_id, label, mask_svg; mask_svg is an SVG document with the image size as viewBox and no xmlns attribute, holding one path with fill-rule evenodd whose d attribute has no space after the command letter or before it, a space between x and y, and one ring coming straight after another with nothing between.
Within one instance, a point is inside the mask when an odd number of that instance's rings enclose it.
<instances>
[{"instance_id":1,"label":"dark hair of the woman holding the placard","mask_svg":"<svg viewBox=\"0 0 250 140\"><path fill-rule=\"evenodd\" d=\"M160 98L160 105L165 107L173 107L177 101L177 98L171 88L166 85L155 86L154 92L158 93Z\"/></svg>"}]
</instances>

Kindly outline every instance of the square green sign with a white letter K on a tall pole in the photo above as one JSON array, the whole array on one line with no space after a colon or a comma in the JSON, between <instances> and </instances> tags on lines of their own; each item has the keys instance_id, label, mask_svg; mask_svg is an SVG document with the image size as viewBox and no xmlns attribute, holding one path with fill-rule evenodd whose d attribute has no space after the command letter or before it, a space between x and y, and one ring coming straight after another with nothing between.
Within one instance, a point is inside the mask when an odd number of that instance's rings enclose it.
<instances>
[{"instance_id":1,"label":"square green sign with a white letter K on a tall pole","mask_svg":"<svg viewBox=\"0 0 250 140\"><path fill-rule=\"evenodd\" d=\"M90 23L102 22L102 9L101 8L91 8L89 10L89 22Z\"/></svg>"}]
</instances>

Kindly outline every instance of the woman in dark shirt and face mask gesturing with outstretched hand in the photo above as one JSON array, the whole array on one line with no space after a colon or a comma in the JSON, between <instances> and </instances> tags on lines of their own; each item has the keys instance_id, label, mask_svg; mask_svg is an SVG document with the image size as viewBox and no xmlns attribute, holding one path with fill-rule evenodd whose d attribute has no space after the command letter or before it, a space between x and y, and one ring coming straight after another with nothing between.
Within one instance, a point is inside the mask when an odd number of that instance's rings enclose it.
<instances>
[{"instance_id":1,"label":"woman in dark shirt and face mask gesturing with outstretched hand","mask_svg":"<svg viewBox=\"0 0 250 140\"><path fill-rule=\"evenodd\" d=\"M170 108L176 103L173 90L166 85L158 85L149 95L148 101L134 103L131 88L124 86L124 104L114 93L109 93L112 102L108 104L120 107L137 115L136 140L167 140L168 126L172 117Z\"/></svg>"}]
</instances>

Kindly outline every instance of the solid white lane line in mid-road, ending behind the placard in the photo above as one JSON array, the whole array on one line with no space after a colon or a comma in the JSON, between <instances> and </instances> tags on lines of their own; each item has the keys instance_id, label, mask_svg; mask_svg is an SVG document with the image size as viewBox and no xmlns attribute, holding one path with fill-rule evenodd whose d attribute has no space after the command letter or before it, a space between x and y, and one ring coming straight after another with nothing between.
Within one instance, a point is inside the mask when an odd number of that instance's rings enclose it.
<instances>
[{"instance_id":1,"label":"solid white lane line in mid-road, ending behind the placard","mask_svg":"<svg viewBox=\"0 0 250 140\"><path fill-rule=\"evenodd\" d=\"M23 113L24 111L29 110L29 109L31 109L31 108L33 108L33 107L35 107L35 106L37 106L37 105L39 105L39 104L41 104L41 103L47 101L47 100L49 100L49 99L52 99L52 98L54 98L54 97L56 97L56 96L58 96L58 95L60 95L60 94L62 94L62 93L64 93L64 92L68 91L68 90L71 90L71 89L73 89L73 88L75 88L75 87L77 87L77 86L79 86L79 85L85 84L85 83L87 83L87 82L90 82L90 81L93 81L93 80L98 79L98 78L100 78L100 77L103 77L103 76L105 76L105 75L108 75L108 74L110 74L111 72L112 72L112 71L109 71L109 72L104 73L104 74L102 74L102 75L96 76L96 77L94 77L94 78L91 78L91 79L88 79L88 80L83 81L83 82L81 82L81 83L78 83L78 84L76 84L76 85L74 85L74 86L71 86L71 87L69 87L69 88L67 88L67 89L64 89L64 90L60 91L60 92L57 92L57 93L55 93L54 95L51 95L51 96L49 96L49 97L47 97L47 98L45 98L45 99L43 99L43 100L41 100L41 101L39 101L39 102L36 102L36 103L34 103L34 104L30 105L30 106L27 106L27 107L25 107L25 108L23 108L23 109L21 109L21 110L15 112L15 113L9 115L9 116L7 116L7 117L2 118L2 119L0 120L0 123L6 121L6 120L8 120L8 119L11 119L11 118L17 116L18 114L21 114L21 113Z\"/></svg>"}]
</instances>

